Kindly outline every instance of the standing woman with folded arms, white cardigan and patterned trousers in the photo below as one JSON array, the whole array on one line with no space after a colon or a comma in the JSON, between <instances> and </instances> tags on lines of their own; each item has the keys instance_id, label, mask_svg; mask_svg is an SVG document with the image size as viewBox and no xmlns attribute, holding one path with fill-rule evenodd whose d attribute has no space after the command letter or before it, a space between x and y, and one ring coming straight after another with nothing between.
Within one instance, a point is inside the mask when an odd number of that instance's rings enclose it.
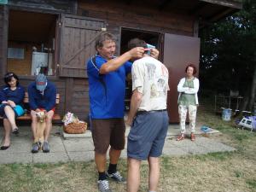
<instances>
[{"instance_id":1,"label":"standing woman with folded arms, white cardigan and patterned trousers","mask_svg":"<svg viewBox=\"0 0 256 192\"><path fill-rule=\"evenodd\" d=\"M186 132L186 117L189 110L189 128L191 130L191 141L195 141L195 119L196 110L198 106L197 92L199 90L199 80L194 77L196 73L196 67L193 64L189 64L185 69L186 77L181 79L177 84L177 92L179 96L177 99L179 124L181 134L177 137L177 141L181 141L185 138Z\"/></svg>"}]
</instances>

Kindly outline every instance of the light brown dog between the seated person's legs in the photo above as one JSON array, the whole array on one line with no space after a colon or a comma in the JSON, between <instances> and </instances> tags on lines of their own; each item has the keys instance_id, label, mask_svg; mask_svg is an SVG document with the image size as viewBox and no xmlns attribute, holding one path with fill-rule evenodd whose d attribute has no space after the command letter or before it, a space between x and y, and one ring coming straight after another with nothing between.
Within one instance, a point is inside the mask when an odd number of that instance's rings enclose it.
<instances>
[{"instance_id":1,"label":"light brown dog between the seated person's legs","mask_svg":"<svg viewBox=\"0 0 256 192\"><path fill-rule=\"evenodd\" d=\"M39 143L40 148L42 148L42 145L44 143L44 131L46 127L46 113L43 111L37 113L38 116L38 126L36 130L36 136L34 143Z\"/></svg>"}]
</instances>

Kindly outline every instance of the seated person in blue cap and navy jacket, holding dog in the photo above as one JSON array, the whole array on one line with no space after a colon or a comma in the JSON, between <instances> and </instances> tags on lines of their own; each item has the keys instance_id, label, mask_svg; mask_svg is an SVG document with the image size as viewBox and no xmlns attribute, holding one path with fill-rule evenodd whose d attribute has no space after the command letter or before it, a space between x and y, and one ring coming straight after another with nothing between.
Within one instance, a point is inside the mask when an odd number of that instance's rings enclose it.
<instances>
[{"instance_id":1,"label":"seated person in blue cap and navy jacket, holding dog","mask_svg":"<svg viewBox=\"0 0 256 192\"><path fill-rule=\"evenodd\" d=\"M36 80L28 85L29 106L32 116L32 134L36 135L38 119L36 113L44 111L46 113L46 128L44 131L43 152L49 152L49 133L52 128L52 118L55 113L56 87L48 81L43 73L39 73ZM38 153L39 144L32 144L32 153Z\"/></svg>"}]
</instances>

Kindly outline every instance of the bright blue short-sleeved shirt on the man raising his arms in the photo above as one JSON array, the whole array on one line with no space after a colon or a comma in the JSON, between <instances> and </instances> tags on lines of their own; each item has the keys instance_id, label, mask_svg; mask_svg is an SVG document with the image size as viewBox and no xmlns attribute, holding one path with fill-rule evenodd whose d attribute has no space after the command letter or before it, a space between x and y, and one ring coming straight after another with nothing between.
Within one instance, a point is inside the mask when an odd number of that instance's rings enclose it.
<instances>
[{"instance_id":1,"label":"bright blue short-sleeved shirt on the man raising his arms","mask_svg":"<svg viewBox=\"0 0 256 192\"><path fill-rule=\"evenodd\" d=\"M123 118L125 77L131 73L131 62L125 62L114 72L100 74L99 70L107 60L100 55L92 58L87 62L91 119Z\"/></svg>"}]
</instances>

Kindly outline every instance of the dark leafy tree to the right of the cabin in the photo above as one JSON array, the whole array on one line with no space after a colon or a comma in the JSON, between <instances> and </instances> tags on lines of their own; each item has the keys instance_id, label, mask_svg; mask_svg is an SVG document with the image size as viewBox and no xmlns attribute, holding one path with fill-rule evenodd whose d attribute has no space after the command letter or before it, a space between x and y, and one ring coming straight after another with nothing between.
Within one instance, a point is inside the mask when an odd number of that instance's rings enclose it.
<instances>
[{"instance_id":1,"label":"dark leafy tree to the right of the cabin","mask_svg":"<svg viewBox=\"0 0 256 192\"><path fill-rule=\"evenodd\" d=\"M241 110L253 109L256 94L256 1L201 32L201 87L214 94L239 90Z\"/></svg>"}]
</instances>

